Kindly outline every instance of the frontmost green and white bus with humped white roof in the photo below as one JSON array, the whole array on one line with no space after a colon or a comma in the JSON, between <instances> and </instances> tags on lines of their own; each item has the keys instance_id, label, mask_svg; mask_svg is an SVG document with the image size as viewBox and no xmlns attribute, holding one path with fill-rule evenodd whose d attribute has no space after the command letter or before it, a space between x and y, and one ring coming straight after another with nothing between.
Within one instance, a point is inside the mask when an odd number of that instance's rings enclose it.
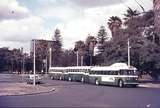
<instances>
[{"instance_id":1,"label":"frontmost green and white bus with humped white roof","mask_svg":"<svg viewBox=\"0 0 160 108\"><path fill-rule=\"evenodd\" d=\"M138 74L135 67L125 63L115 63L108 67L93 67L89 73L89 82L96 85L116 85L124 87L138 85Z\"/></svg>"}]
</instances>

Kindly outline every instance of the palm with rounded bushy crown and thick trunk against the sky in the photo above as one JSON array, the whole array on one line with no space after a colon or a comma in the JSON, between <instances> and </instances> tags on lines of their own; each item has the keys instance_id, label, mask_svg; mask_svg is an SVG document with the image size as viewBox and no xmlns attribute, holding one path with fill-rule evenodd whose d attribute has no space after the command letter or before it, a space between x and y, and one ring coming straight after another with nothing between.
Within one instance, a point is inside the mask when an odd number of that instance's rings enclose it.
<instances>
[{"instance_id":1,"label":"palm with rounded bushy crown and thick trunk against the sky","mask_svg":"<svg viewBox=\"0 0 160 108\"><path fill-rule=\"evenodd\" d=\"M116 37L116 32L120 29L122 26L122 20L117 16L112 16L108 20L108 27L111 30L112 37Z\"/></svg>"}]
</instances>

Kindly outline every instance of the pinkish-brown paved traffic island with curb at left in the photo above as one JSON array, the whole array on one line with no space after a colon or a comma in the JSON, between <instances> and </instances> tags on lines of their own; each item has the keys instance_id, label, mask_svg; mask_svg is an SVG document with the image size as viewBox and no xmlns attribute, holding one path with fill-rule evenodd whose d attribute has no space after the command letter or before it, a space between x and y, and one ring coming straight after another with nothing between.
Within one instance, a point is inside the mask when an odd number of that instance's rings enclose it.
<instances>
[{"instance_id":1,"label":"pinkish-brown paved traffic island with curb at left","mask_svg":"<svg viewBox=\"0 0 160 108\"><path fill-rule=\"evenodd\" d=\"M0 96L33 95L55 91L53 87L31 85L27 83L0 83Z\"/></svg>"}]
</instances>

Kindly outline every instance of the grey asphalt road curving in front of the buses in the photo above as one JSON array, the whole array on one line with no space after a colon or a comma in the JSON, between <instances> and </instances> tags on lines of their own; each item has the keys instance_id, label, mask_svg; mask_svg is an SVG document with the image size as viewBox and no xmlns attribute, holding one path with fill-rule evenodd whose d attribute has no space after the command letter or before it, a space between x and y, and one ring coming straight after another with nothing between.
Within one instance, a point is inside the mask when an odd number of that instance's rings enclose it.
<instances>
[{"instance_id":1,"label":"grey asphalt road curving in front of the buses","mask_svg":"<svg viewBox=\"0 0 160 108\"><path fill-rule=\"evenodd\" d=\"M44 82L43 86L54 86L56 91L1 96L0 107L160 108L160 89L157 88L118 88L58 80Z\"/></svg>"}]
</instances>

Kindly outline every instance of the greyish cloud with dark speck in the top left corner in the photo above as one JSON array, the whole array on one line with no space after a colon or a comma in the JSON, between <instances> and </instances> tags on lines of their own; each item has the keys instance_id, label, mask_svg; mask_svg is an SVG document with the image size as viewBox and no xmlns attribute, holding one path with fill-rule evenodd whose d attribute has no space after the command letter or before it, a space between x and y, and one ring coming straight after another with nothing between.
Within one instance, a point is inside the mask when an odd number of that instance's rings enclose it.
<instances>
[{"instance_id":1,"label":"greyish cloud with dark speck in the top left corner","mask_svg":"<svg viewBox=\"0 0 160 108\"><path fill-rule=\"evenodd\" d=\"M29 16L28 9L16 0L2 0L0 3L0 20L21 19Z\"/></svg>"}]
</instances>

